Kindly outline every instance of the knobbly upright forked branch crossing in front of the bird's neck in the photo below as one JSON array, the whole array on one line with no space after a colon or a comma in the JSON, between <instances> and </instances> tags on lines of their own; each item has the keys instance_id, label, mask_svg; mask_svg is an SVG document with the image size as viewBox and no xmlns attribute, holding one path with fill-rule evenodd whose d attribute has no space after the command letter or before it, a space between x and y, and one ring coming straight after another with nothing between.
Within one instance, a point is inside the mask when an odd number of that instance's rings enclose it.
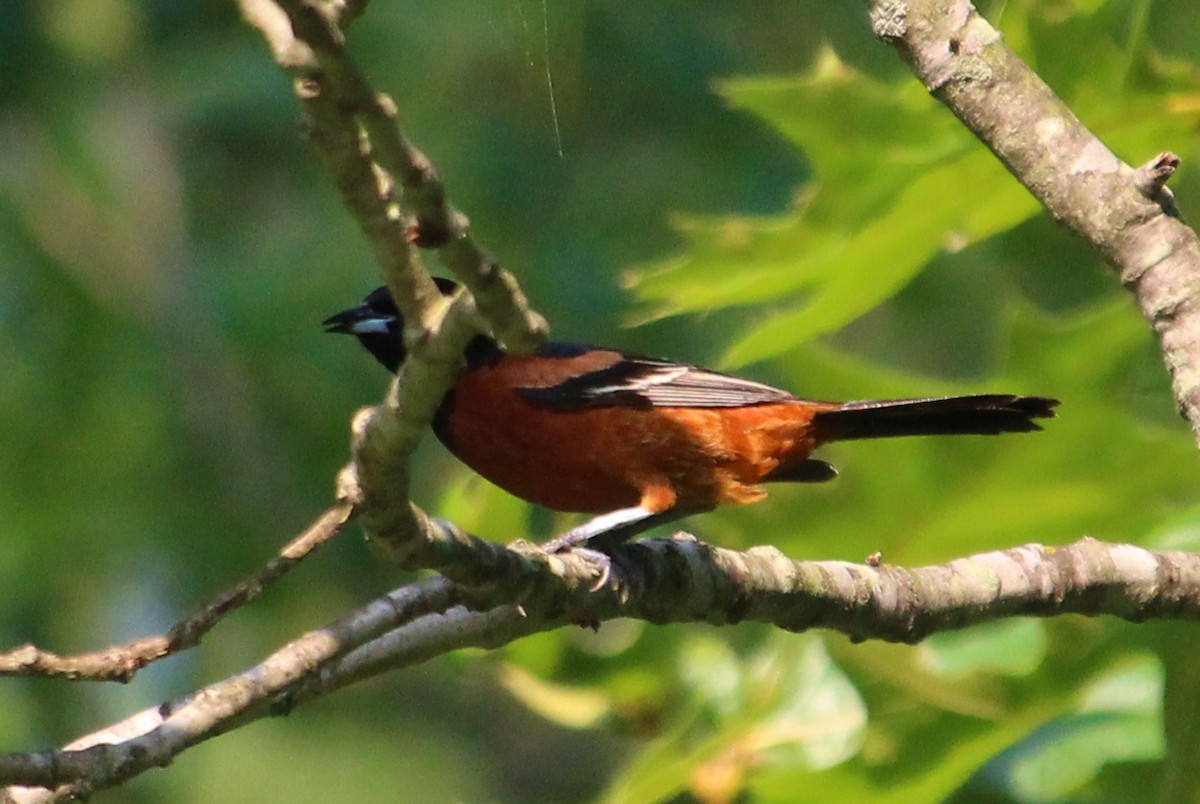
<instances>
[{"instance_id":1,"label":"knobbly upright forked branch crossing in front of the bird's neck","mask_svg":"<svg viewBox=\"0 0 1200 804\"><path fill-rule=\"evenodd\" d=\"M241 0L241 7L292 77L312 142L408 328L409 356L388 398L355 419L354 462L342 472L340 497L361 508L367 533L391 559L439 564L445 533L409 503L408 456L454 385L472 336L490 328L520 353L541 341L546 323L470 236L432 162L397 128L395 103L371 88L346 52L337 24L344 8L308 0ZM470 294L448 305L420 247L438 248Z\"/></svg>"}]
</instances>

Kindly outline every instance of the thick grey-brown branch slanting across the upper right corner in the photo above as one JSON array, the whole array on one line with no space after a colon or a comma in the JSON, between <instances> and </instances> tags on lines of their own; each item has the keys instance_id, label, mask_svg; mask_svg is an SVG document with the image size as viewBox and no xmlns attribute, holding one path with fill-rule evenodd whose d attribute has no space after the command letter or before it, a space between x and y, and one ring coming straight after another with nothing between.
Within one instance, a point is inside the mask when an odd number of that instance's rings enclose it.
<instances>
[{"instance_id":1,"label":"thick grey-brown branch slanting across the upper right corner","mask_svg":"<svg viewBox=\"0 0 1200 804\"><path fill-rule=\"evenodd\" d=\"M1158 335L1200 439L1200 239L1164 186L1178 160L1163 154L1135 170L1117 158L967 0L869 5L876 35L934 97L1117 270Z\"/></svg>"}]
</instances>

